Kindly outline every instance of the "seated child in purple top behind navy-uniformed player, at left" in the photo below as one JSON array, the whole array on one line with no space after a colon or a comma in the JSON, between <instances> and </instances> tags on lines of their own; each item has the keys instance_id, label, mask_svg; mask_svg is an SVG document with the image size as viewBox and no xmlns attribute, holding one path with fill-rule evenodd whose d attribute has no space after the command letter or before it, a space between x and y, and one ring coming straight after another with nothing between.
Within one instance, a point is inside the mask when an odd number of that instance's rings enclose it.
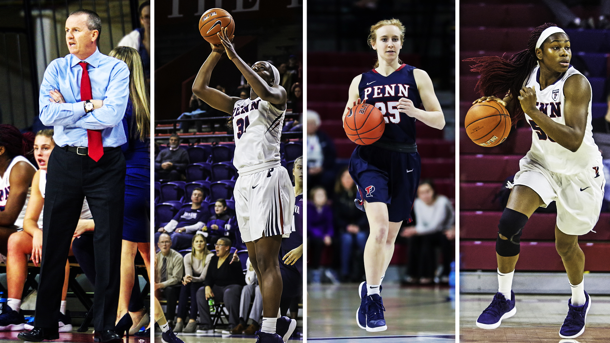
<instances>
[{"instance_id":1,"label":"seated child in purple top behind navy-uniformed player, at left","mask_svg":"<svg viewBox=\"0 0 610 343\"><path fill-rule=\"evenodd\" d=\"M312 283L320 283L320 259L324 247L330 247L334 229L332 228L332 209L328 205L326 190L317 186L309 191L312 200L307 201L307 239L311 258Z\"/></svg>"}]
</instances>

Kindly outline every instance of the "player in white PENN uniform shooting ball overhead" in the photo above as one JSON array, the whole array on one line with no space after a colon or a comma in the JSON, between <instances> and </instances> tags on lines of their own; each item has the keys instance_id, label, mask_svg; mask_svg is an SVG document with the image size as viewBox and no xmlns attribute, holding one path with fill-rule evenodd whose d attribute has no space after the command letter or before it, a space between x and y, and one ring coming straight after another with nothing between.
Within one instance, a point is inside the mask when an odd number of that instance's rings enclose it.
<instances>
[{"instance_id":1,"label":"player in white PENN uniform shooting ball overhead","mask_svg":"<svg viewBox=\"0 0 610 343\"><path fill-rule=\"evenodd\" d=\"M235 182L235 212L248 256L259 279L263 297L263 322L257 342L283 342L291 320L278 318L282 276L278 253L282 236L290 234L295 196L288 171L280 163L279 143L286 110L286 91L279 85L279 71L268 62L252 67L237 56L227 29L218 37L203 63L193 93L215 109L232 115L235 139L233 164L239 171ZM209 87L218 60L227 57L251 87L250 97L235 98ZM293 329L294 330L294 329Z\"/></svg>"}]
</instances>

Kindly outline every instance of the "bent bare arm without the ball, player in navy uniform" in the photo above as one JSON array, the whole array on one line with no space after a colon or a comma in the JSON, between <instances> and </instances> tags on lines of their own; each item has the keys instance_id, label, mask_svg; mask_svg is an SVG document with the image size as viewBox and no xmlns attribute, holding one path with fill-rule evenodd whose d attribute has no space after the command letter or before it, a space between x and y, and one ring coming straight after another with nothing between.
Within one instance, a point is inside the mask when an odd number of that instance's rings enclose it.
<instances>
[{"instance_id":1,"label":"bent bare arm without the ball, player in navy uniform","mask_svg":"<svg viewBox=\"0 0 610 343\"><path fill-rule=\"evenodd\" d=\"M413 76L415 78L417 90L419 91L420 98L422 98L422 104L425 110L417 109L411 100L401 98L398 101L398 111L403 112L409 117L420 120L425 125L431 126L432 128L444 128L445 116L440 108L439 99L437 99L436 94L434 94L434 86L432 85L430 76L428 76L428 73L421 69L415 69L413 71Z\"/></svg>"}]
</instances>

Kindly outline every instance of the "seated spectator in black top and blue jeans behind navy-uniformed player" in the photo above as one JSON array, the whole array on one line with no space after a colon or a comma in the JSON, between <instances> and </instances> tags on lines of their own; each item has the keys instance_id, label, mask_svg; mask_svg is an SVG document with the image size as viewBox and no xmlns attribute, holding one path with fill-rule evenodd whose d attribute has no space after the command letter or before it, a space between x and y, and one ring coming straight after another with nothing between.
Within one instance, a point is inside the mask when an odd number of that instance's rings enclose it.
<instances>
[{"instance_id":1,"label":"seated spectator in black top and blue jeans behind navy-uniformed player","mask_svg":"<svg viewBox=\"0 0 610 343\"><path fill-rule=\"evenodd\" d=\"M347 167L337 176L332 217L341 239L341 273L343 281L360 282L364 275L364 246L368 238L368 220L354 205L356 184ZM354 253L354 245L356 251ZM351 268L353 266L353 269Z\"/></svg>"}]
</instances>

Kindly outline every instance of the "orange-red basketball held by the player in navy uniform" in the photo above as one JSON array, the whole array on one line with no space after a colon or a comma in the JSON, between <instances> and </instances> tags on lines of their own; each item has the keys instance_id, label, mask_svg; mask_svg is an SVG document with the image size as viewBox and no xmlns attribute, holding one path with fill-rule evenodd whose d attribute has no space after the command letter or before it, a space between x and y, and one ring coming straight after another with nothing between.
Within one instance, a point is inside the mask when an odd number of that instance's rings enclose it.
<instances>
[{"instance_id":1,"label":"orange-red basketball held by the player in navy uniform","mask_svg":"<svg viewBox=\"0 0 610 343\"><path fill-rule=\"evenodd\" d=\"M386 121L381 111L371 104L359 104L351 108L345 116L343 128L347 137L359 145L377 142L386 129Z\"/></svg>"}]
</instances>

